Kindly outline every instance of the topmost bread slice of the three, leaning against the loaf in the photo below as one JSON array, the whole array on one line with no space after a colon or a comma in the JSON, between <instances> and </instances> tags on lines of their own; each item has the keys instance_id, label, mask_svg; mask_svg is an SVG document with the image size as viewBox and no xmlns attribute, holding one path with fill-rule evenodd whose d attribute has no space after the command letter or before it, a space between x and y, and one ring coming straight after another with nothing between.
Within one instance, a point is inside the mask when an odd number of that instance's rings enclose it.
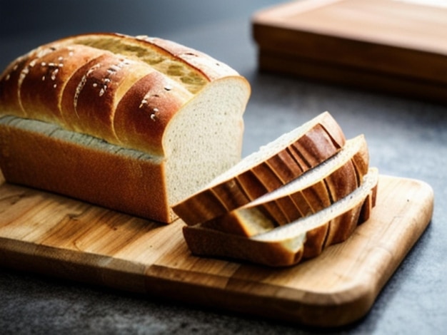
<instances>
[{"instance_id":1,"label":"topmost bread slice of the three, leaning against the loaf","mask_svg":"<svg viewBox=\"0 0 447 335\"><path fill-rule=\"evenodd\" d=\"M345 142L336 120L328 112L321 113L243 158L173 210L187 225L214 219L316 167Z\"/></svg>"}]
</instances>

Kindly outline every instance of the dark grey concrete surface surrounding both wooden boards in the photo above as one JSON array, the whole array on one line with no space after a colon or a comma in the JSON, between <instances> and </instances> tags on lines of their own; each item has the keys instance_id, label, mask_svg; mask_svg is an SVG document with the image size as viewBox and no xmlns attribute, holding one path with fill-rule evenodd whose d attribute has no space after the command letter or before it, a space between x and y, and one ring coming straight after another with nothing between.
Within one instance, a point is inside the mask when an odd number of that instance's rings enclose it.
<instances>
[{"instance_id":1,"label":"dark grey concrete surface surrounding both wooden boards","mask_svg":"<svg viewBox=\"0 0 447 335\"><path fill-rule=\"evenodd\" d=\"M278 1L0 0L0 68L72 33L119 31L170 38L210 53L248 78L243 154L324 110L348 137L364 133L381 173L428 182L431 225L358 323L340 334L447 331L447 106L258 73L253 11ZM65 14L59 14L59 10ZM1 256L1 255L0 255ZM307 334L293 324L117 292L0 268L0 334Z\"/></svg>"}]
</instances>

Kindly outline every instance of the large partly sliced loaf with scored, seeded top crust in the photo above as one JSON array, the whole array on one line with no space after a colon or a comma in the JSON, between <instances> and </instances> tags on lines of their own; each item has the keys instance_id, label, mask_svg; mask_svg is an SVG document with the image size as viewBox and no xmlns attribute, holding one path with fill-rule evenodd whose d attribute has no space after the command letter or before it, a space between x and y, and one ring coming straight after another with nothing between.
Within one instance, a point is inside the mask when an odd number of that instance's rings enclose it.
<instances>
[{"instance_id":1,"label":"large partly sliced loaf with scored, seeded top crust","mask_svg":"<svg viewBox=\"0 0 447 335\"><path fill-rule=\"evenodd\" d=\"M161 222L241 160L245 78L199 51L113 33L63 38L0 77L0 168Z\"/></svg>"}]
</instances>

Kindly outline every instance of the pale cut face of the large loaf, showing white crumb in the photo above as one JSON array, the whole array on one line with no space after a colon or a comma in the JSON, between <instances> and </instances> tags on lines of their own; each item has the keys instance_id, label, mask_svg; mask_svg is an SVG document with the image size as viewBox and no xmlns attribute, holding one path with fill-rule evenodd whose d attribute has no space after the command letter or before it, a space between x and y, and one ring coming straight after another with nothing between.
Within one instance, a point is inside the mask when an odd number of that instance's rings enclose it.
<instances>
[{"instance_id":1,"label":"pale cut face of the large loaf, showing white crumb","mask_svg":"<svg viewBox=\"0 0 447 335\"><path fill-rule=\"evenodd\" d=\"M241 160L242 113L249 87L242 78L219 79L186 103L163 138L170 203L189 197Z\"/></svg>"}]
</instances>

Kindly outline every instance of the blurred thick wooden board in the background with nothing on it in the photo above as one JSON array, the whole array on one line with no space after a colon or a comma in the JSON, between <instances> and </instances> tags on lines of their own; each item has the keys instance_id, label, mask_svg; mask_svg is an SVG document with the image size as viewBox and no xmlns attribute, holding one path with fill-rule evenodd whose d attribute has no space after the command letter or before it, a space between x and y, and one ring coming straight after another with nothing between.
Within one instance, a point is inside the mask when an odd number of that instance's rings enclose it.
<instances>
[{"instance_id":1,"label":"blurred thick wooden board in the background with nothing on it","mask_svg":"<svg viewBox=\"0 0 447 335\"><path fill-rule=\"evenodd\" d=\"M253 15L258 67L447 101L447 5L435 0L288 1Z\"/></svg>"}]
</instances>

